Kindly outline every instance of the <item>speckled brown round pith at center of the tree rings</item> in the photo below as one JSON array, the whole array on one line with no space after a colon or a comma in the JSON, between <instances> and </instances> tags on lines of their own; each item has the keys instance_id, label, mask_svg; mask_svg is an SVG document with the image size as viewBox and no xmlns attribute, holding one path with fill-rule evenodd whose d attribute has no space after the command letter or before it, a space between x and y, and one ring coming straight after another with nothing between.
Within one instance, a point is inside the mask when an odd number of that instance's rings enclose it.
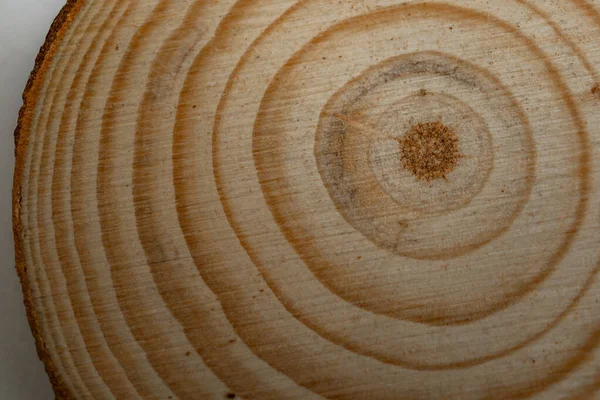
<instances>
[{"instance_id":1,"label":"speckled brown round pith at center of the tree rings","mask_svg":"<svg viewBox=\"0 0 600 400\"><path fill-rule=\"evenodd\" d=\"M458 136L441 121L413 125L398 142L404 168L428 182L447 180L462 158Z\"/></svg>"}]
</instances>

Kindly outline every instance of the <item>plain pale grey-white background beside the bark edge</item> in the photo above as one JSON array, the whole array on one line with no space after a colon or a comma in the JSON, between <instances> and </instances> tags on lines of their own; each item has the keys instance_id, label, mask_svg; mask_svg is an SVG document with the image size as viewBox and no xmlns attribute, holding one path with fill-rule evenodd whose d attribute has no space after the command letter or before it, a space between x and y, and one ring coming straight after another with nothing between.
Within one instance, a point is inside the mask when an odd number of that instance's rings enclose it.
<instances>
[{"instance_id":1,"label":"plain pale grey-white background beside the bark edge","mask_svg":"<svg viewBox=\"0 0 600 400\"><path fill-rule=\"evenodd\" d=\"M35 57L65 0L0 0L0 400L53 399L25 317L12 241L13 131Z\"/></svg>"}]
</instances>

